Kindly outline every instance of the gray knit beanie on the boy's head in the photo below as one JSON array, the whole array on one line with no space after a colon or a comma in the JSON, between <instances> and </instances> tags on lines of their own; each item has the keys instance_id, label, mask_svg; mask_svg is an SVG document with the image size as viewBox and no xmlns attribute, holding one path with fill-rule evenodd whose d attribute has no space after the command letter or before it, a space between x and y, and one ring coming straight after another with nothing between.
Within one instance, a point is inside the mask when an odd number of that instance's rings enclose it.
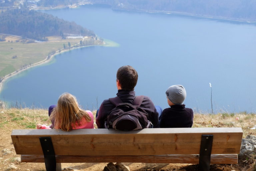
<instances>
[{"instance_id":1,"label":"gray knit beanie on the boy's head","mask_svg":"<svg viewBox=\"0 0 256 171\"><path fill-rule=\"evenodd\" d=\"M186 90L182 85L170 86L165 92L168 99L174 104L183 104L186 98Z\"/></svg>"}]
</instances>

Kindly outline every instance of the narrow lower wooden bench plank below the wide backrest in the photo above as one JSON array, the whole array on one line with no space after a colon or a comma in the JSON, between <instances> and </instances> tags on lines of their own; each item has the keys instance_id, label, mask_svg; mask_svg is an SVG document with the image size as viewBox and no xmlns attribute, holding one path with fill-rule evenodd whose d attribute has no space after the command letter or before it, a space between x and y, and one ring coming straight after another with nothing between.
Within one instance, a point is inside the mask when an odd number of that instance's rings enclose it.
<instances>
[{"instance_id":1,"label":"narrow lower wooden bench plank below the wide backrest","mask_svg":"<svg viewBox=\"0 0 256 171\"><path fill-rule=\"evenodd\" d=\"M212 154L211 164L237 164L237 154ZM63 156L56 155L57 163L191 163L198 164L198 155L162 155L162 156ZM43 155L21 155L21 162L44 163Z\"/></svg>"}]
</instances>

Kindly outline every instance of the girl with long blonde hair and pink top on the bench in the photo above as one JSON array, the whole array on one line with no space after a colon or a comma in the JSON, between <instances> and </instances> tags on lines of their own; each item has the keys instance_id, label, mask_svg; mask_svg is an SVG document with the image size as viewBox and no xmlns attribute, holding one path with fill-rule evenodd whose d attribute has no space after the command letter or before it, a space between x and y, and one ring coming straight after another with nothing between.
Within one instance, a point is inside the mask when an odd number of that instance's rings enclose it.
<instances>
[{"instance_id":1,"label":"girl with long blonde hair and pink top on the bench","mask_svg":"<svg viewBox=\"0 0 256 171\"><path fill-rule=\"evenodd\" d=\"M58 104L49 107L49 119L51 126L37 125L37 129L61 129L70 131L72 129L94 128L93 114L89 110L79 108L76 97L64 93L59 97Z\"/></svg>"}]
</instances>

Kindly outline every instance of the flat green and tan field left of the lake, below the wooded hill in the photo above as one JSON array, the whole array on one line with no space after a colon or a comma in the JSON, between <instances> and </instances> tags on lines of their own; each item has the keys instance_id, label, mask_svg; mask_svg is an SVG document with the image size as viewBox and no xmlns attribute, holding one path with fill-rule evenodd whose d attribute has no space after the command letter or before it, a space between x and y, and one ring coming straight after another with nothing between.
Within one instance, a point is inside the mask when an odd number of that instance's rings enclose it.
<instances>
[{"instance_id":1,"label":"flat green and tan field left of the lake, below the wooded hill","mask_svg":"<svg viewBox=\"0 0 256 171\"><path fill-rule=\"evenodd\" d=\"M48 37L47 42L23 43L16 42L20 37L8 36L6 41L0 42L0 78L30 65L44 60L51 52L80 43L82 38L61 39L61 37Z\"/></svg>"}]
</instances>

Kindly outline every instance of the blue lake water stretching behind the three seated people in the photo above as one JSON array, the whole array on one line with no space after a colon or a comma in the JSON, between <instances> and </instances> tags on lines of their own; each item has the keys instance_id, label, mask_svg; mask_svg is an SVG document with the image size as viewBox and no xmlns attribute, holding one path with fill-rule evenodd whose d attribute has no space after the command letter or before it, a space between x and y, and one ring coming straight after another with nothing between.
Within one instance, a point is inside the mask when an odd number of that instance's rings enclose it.
<instances>
[{"instance_id":1,"label":"blue lake water stretching behind the three seated people","mask_svg":"<svg viewBox=\"0 0 256 171\"><path fill-rule=\"evenodd\" d=\"M195 112L256 112L256 26L168 14L113 11L88 5L43 11L93 30L119 46L91 46L54 57L5 82L0 98L15 106L47 108L63 92L85 109L114 97L116 71L131 65L136 95L168 107L165 91L182 84Z\"/></svg>"}]
</instances>

